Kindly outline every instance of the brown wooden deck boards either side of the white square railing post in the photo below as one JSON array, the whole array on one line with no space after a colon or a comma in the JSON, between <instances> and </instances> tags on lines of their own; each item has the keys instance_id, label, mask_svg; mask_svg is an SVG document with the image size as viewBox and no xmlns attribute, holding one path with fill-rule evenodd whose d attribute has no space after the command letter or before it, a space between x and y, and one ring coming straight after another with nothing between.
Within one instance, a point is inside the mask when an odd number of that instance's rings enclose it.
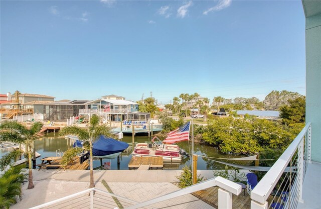
<instances>
[{"instance_id":1,"label":"brown wooden deck boards either side of the white square railing post","mask_svg":"<svg viewBox=\"0 0 321 209\"><path fill-rule=\"evenodd\" d=\"M198 198L202 199L203 201L207 202L208 204L212 205L215 208L218 208L218 186L211 187L206 189L205 191L200 190L197 192L194 192L193 194L197 196ZM250 208L251 204L251 197L250 195L245 191L245 195L243 196L243 191L237 196L233 194L233 208L240 208L240 209L246 209Z\"/></svg>"}]
</instances>

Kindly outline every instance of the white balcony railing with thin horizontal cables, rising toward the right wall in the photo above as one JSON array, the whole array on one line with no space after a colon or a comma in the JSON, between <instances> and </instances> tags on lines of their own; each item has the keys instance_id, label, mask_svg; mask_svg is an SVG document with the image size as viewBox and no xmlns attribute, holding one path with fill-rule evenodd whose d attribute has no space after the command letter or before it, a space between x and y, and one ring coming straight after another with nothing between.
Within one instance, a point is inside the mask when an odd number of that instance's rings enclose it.
<instances>
[{"instance_id":1,"label":"white balcony railing with thin horizontal cables, rising toward the right wall","mask_svg":"<svg viewBox=\"0 0 321 209\"><path fill-rule=\"evenodd\" d=\"M302 201L310 150L311 123L307 123L252 190L251 208L296 208L298 201Z\"/></svg>"}]
</instances>

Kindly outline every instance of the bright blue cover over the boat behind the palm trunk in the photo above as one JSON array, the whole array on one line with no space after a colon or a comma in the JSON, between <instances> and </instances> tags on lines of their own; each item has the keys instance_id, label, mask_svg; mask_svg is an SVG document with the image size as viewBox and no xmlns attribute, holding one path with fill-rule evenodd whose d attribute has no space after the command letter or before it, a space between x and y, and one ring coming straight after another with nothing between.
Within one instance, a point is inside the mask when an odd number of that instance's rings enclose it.
<instances>
[{"instance_id":1,"label":"bright blue cover over the boat behind the palm trunk","mask_svg":"<svg viewBox=\"0 0 321 209\"><path fill-rule=\"evenodd\" d=\"M81 141L77 140L74 143L74 147L82 147ZM114 153L122 152L127 149L129 145L126 142L117 141L113 138L108 138L105 136L100 136L92 147L93 156L105 156Z\"/></svg>"}]
</instances>

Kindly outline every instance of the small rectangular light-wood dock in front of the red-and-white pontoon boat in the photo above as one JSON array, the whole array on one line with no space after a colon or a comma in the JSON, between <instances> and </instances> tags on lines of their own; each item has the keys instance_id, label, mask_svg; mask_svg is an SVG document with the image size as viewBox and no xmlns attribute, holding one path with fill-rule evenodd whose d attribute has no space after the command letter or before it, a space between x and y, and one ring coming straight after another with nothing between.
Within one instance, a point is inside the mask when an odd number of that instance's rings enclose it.
<instances>
[{"instance_id":1,"label":"small rectangular light-wood dock in front of the red-and-white pontoon boat","mask_svg":"<svg viewBox=\"0 0 321 209\"><path fill-rule=\"evenodd\" d=\"M139 170L163 169L163 157L133 156L128 163L128 168Z\"/></svg>"}]
</instances>

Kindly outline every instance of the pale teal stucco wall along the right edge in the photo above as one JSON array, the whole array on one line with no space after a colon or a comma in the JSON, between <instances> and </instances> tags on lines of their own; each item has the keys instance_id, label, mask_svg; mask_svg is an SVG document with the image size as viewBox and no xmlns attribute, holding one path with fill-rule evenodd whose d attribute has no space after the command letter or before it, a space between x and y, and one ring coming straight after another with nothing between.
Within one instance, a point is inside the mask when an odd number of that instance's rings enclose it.
<instances>
[{"instance_id":1,"label":"pale teal stucco wall along the right edge","mask_svg":"<svg viewBox=\"0 0 321 209\"><path fill-rule=\"evenodd\" d=\"M306 122L312 124L311 160L321 162L321 14L307 17Z\"/></svg>"}]
</instances>

